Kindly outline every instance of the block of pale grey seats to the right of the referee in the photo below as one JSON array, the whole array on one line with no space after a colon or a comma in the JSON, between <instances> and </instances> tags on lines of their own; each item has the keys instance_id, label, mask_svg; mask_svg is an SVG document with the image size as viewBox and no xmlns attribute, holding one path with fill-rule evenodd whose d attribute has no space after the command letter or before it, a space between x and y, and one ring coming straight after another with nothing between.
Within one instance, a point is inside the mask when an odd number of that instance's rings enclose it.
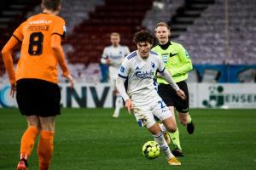
<instances>
[{"instance_id":1,"label":"block of pale grey seats to the right of the referee","mask_svg":"<svg viewBox=\"0 0 256 170\"><path fill-rule=\"evenodd\" d=\"M183 43L195 64L256 64L256 3L229 0L230 55L226 56L224 1L216 0L187 31L175 38Z\"/></svg>"}]
</instances>

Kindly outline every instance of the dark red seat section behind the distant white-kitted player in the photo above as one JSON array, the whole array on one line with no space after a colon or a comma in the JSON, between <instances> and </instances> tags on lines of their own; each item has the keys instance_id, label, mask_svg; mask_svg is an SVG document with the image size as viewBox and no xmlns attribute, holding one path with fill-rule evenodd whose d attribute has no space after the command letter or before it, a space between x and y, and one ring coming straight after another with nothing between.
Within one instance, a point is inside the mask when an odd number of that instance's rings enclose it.
<instances>
[{"instance_id":1,"label":"dark red seat section behind the distant white-kitted player","mask_svg":"<svg viewBox=\"0 0 256 170\"><path fill-rule=\"evenodd\" d=\"M141 29L144 14L151 6L152 1L148 0L106 0L104 5L96 6L89 19L76 26L73 35L68 37L74 47L74 52L68 54L69 62L99 63L113 31L121 34L123 44L134 49L133 33Z\"/></svg>"}]
</instances>

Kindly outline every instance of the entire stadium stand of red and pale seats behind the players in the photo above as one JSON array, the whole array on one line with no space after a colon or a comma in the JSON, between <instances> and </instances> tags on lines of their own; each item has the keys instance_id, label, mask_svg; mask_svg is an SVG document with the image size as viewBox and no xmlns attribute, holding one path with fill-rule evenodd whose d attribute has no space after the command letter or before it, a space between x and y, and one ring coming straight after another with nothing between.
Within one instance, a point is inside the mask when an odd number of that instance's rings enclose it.
<instances>
[{"instance_id":1,"label":"entire stadium stand of red and pale seats behind the players","mask_svg":"<svg viewBox=\"0 0 256 170\"><path fill-rule=\"evenodd\" d=\"M39 3L40 0L1 1L0 48L16 26L40 11L39 7L34 8ZM252 0L229 0L230 43L226 57L223 0L65 0L61 10L68 29L64 51L75 77L98 81L91 74L100 77L98 64L103 48L110 44L112 31L118 31L121 43L133 50L135 31L143 27L154 31L155 24L164 20L172 27L172 40L188 49L194 64L252 65L256 64L255 7ZM15 61L18 58L16 55ZM0 57L0 76L4 72ZM195 76L198 79L201 78Z\"/></svg>"}]
</instances>

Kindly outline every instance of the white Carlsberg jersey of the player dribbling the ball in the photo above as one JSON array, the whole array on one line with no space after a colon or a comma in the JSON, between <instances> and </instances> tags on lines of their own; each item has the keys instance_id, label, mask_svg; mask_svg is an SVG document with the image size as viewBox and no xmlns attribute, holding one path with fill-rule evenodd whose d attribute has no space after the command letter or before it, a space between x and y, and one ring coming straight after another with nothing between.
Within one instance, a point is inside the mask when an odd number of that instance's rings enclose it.
<instances>
[{"instance_id":1,"label":"white Carlsberg jersey of the player dribbling the ball","mask_svg":"<svg viewBox=\"0 0 256 170\"><path fill-rule=\"evenodd\" d=\"M137 51L125 57L119 77L128 78L127 94L133 102L143 104L160 98L154 87L155 71L165 71L165 65L153 51L150 51L147 59L143 59Z\"/></svg>"}]
</instances>

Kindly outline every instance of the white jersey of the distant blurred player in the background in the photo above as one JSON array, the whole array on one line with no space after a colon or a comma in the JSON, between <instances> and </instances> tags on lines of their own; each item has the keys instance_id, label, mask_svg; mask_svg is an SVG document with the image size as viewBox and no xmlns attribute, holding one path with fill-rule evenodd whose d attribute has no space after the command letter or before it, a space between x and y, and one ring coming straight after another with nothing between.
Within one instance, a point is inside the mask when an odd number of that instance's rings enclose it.
<instances>
[{"instance_id":1,"label":"white jersey of the distant blurred player in the background","mask_svg":"<svg viewBox=\"0 0 256 170\"><path fill-rule=\"evenodd\" d=\"M106 59L110 60L111 65L117 69L121 65L126 55L130 54L130 50L127 46L119 45L113 47L113 45L104 48L102 54L102 63L106 63Z\"/></svg>"}]
</instances>

